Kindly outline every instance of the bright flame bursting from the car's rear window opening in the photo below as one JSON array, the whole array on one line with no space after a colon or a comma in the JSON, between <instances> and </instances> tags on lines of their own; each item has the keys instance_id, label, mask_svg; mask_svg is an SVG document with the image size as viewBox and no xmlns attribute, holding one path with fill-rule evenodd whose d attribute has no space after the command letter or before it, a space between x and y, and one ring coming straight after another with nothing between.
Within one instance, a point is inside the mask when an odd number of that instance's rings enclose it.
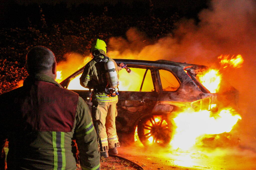
<instances>
[{"instance_id":1,"label":"bright flame bursting from the car's rear window opening","mask_svg":"<svg viewBox=\"0 0 256 170\"><path fill-rule=\"evenodd\" d=\"M211 93L217 93L220 89L222 75L217 69L209 69L204 74L198 74L197 78L201 84L207 88Z\"/></svg>"}]
</instances>

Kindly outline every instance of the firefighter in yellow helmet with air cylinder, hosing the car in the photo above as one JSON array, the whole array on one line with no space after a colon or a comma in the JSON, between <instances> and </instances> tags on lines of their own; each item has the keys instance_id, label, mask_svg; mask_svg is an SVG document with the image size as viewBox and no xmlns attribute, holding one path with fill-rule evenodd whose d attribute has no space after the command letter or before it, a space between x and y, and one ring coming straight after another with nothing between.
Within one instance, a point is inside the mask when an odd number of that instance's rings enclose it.
<instances>
[{"instance_id":1,"label":"firefighter in yellow helmet with air cylinder, hosing the car","mask_svg":"<svg viewBox=\"0 0 256 170\"><path fill-rule=\"evenodd\" d=\"M95 129L99 130L99 146L101 156L107 158L108 153L118 154L120 143L116 134L115 117L117 116L116 103L118 102L118 79L119 70L116 62L109 58L107 46L103 40L97 39L92 44L91 53L93 59L84 67L80 77L81 86L93 89L92 117ZM107 65L113 64L113 68L108 69ZM111 74L116 74L114 82L110 82ZM114 84L114 85L113 85ZM115 86L115 87L114 87Z\"/></svg>"}]
</instances>

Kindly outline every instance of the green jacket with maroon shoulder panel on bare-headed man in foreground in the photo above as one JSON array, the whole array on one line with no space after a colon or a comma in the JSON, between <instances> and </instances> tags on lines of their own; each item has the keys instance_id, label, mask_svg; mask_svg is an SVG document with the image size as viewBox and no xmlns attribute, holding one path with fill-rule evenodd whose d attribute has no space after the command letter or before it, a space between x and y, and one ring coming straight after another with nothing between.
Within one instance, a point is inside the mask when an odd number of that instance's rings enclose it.
<instances>
[{"instance_id":1,"label":"green jacket with maroon shoulder panel on bare-headed man in foreground","mask_svg":"<svg viewBox=\"0 0 256 170\"><path fill-rule=\"evenodd\" d=\"M87 104L44 74L0 96L0 137L8 138L8 169L100 169L97 135ZM1 148L2 149L2 148Z\"/></svg>"}]
</instances>

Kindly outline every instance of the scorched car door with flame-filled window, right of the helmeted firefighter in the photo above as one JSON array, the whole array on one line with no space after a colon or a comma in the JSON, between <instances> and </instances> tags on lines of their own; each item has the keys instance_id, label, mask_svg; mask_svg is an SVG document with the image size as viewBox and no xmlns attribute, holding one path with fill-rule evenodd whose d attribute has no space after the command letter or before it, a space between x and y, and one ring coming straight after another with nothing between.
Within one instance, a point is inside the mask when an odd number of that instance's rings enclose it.
<instances>
[{"instance_id":1,"label":"scorched car door with flame-filled window, right of the helmeted firefighter","mask_svg":"<svg viewBox=\"0 0 256 170\"><path fill-rule=\"evenodd\" d=\"M116 129L118 132L133 131L136 121L150 114L157 102L157 84L153 67L128 65L132 70L119 72L119 101Z\"/></svg>"}]
</instances>

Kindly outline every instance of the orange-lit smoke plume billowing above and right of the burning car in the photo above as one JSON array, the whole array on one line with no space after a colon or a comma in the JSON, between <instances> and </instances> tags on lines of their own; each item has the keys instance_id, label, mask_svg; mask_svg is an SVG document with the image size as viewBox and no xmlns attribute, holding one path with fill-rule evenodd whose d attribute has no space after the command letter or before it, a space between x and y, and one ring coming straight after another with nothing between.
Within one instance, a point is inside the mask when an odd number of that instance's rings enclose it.
<instances>
[{"instance_id":1,"label":"orange-lit smoke plume billowing above and right of the burning car","mask_svg":"<svg viewBox=\"0 0 256 170\"><path fill-rule=\"evenodd\" d=\"M136 28L127 31L127 39L109 40L112 58L140 60L171 60L219 67L221 54L241 54L241 68L226 68L223 78L239 90L239 113L242 116L239 131L241 147L255 150L256 144L256 2L253 0L216 0L202 10L200 22L182 19L174 36L152 43Z\"/></svg>"}]
</instances>

